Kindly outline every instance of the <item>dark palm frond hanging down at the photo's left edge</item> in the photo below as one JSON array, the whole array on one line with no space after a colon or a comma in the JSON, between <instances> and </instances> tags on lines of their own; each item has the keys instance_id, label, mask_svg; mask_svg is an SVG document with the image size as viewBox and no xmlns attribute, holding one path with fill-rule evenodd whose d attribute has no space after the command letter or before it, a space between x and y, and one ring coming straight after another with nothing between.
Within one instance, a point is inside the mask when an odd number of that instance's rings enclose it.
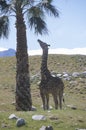
<instances>
[{"instance_id":1,"label":"dark palm frond hanging down at the photo's left edge","mask_svg":"<svg viewBox=\"0 0 86 130\"><path fill-rule=\"evenodd\" d=\"M6 37L9 35L9 19L7 16L0 17L0 38Z\"/></svg>"}]
</instances>

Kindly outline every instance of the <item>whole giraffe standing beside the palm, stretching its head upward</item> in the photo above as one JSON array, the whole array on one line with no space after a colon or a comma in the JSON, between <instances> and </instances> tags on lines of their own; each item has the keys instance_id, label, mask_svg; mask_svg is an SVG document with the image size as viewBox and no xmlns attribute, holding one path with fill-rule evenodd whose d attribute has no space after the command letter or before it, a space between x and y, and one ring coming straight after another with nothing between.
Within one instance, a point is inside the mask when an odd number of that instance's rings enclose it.
<instances>
[{"instance_id":1,"label":"whole giraffe standing beside the palm, stretching its head upward","mask_svg":"<svg viewBox=\"0 0 86 130\"><path fill-rule=\"evenodd\" d=\"M39 84L40 95L43 102L43 109L49 109L49 94L52 94L55 109L58 109L58 99L60 109L62 109L64 83L59 77L53 77L47 67L48 59L48 45L38 39L38 43L43 50L42 63L41 63L41 82Z\"/></svg>"}]
</instances>

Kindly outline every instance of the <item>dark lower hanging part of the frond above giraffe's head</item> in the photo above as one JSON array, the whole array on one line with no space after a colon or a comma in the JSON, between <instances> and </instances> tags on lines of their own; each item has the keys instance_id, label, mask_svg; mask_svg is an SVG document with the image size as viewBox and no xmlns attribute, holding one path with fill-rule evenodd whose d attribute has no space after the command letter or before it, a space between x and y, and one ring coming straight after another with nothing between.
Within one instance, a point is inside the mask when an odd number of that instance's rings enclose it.
<instances>
[{"instance_id":1,"label":"dark lower hanging part of the frond above giraffe's head","mask_svg":"<svg viewBox=\"0 0 86 130\"><path fill-rule=\"evenodd\" d=\"M48 33L46 23L40 17L31 17L29 19L30 29L34 28L36 34Z\"/></svg>"}]
</instances>

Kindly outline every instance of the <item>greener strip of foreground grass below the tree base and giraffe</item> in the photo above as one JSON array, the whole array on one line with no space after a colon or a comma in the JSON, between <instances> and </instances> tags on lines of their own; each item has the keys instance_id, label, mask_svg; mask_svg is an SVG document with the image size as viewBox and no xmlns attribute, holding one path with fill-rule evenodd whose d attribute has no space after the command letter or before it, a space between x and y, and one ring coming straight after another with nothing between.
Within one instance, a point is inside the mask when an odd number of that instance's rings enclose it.
<instances>
[{"instance_id":1,"label":"greener strip of foreground grass below the tree base and giraffe","mask_svg":"<svg viewBox=\"0 0 86 130\"><path fill-rule=\"evenodd\" d=\"M11 112L0 113L0 124L6 124L6 130L17 130L16 120L9 120ZM39 130L43 125L52 125L54 130L74 130L75 128L86 128L85 111L82 110L51 110L51 112L43 111L38 108L36 112L14 112L18 117L24 118L26 125L20 129L23 130ZM34 121L32 115L43 114L46 116L46 121ZM0 130L2 130L1 128Z\"/></svg>"}]
</instances>

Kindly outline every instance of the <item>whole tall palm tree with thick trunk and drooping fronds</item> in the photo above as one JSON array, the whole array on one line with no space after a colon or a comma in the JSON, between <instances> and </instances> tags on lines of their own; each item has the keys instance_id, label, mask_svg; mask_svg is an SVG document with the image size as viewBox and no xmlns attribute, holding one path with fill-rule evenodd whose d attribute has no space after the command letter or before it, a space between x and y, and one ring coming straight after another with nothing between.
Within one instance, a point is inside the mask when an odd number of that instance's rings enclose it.
<instances>
[{"instance_id":1,"label":"whole tall palm tree with thick trunk and drooping fronds","mask_svg":"<svg viewBox=\"0 0 86 130\"><path fill-rule=\"evenodd\" d=\"M0 1L0 38L8 38L9 20L16 20L16 110L28 111L32 108L30 92L29 61L27 53L26 24L36 34L48 33L45 14L59 16L58 10L52 5L53 0L1 0Z\"/></svg>"}]
</instances>

